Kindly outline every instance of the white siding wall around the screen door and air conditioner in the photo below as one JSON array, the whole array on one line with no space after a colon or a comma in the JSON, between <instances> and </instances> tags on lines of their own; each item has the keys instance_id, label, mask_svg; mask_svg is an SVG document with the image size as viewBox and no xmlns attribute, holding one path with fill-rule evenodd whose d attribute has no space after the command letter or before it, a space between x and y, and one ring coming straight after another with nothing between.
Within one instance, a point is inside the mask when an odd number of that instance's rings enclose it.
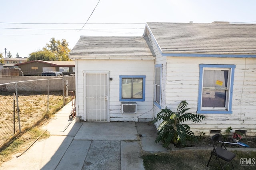
<instances>
[{"instance_id":1,"label":"white siding wall around the screen door and air conditioner","mask_svg":"<svg viewBox=\"0 0 256 170\"><path fill-rule=\"evenodd\" d=\"M82 120L84 111L83 71L110 71L110 121L151 121L153 117L154 60L84 60L77 61L77 115ZM146 75L145 101L137 103L136 114L122 114L119 101L119 75Z\"/></svg>"}]
</instances>

